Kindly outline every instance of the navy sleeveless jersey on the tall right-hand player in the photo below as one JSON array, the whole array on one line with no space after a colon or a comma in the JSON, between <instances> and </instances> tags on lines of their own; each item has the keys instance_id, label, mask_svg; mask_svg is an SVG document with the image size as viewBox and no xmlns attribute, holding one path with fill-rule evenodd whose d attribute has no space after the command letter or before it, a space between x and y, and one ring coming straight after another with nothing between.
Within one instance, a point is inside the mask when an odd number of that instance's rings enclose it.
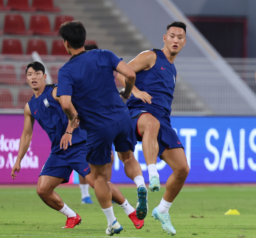
<instances>
[{"instance_id":1,"label":"navy sleeveless jersey on the tall right-hand player","mask_svg":"<svg viewBox=\"0 0 256 238\"><path fill-rule=\"evenodd\" d=\"M151 108L164 115L170 115L177 72L174 64L166 59L162 50L151 50L157 54L156 62L151 69L139 71L136 74L135 86L153 97L152 104L144 103L132 95L127 100L126 105L129 110L132 108Z\"/></svg>"}]
</instances>

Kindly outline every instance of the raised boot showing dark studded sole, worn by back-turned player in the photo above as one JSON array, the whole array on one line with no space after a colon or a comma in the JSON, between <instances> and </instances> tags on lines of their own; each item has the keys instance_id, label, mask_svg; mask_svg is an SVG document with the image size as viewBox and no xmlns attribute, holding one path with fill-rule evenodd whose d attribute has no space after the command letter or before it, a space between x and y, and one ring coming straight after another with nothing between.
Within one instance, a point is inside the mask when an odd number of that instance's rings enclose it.
<instances>
[{"instance_id":1,"label":"raised boot showing dark studded sole, worn by back-turned player","mask_svg":"<svg viewBox=\"0 0 256 238\"><path fill-rule=\"evenodd\" d=\"M136 216L143 220L147 216L147 188L144 185L139 186L137 190Z\"/></svg>"}]
</instances>

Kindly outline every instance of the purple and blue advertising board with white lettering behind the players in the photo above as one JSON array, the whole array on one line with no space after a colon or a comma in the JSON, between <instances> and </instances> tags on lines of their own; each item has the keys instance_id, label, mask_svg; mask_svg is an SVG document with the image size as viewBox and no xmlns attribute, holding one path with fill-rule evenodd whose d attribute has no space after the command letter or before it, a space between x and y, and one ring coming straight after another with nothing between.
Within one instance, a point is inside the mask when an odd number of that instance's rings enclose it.
<instances>
[{"instance_id":1,"label":"purple and blue advertising board with white lettering behind the players","mask_svg":"<svg viewBox=\"0 0 256 238\"><path fill-rule=\"evenodd\" d=\"M34 124L30 149L15 180L11 168L19 150L23 130L23 115L0 115L0 184L36 183L47 160L51 143L37 122ZM256 117L177 117L171 116L187 156L190 173L187 183L248 183L256 182ZM8 125L8 126L7 126ZM138 143L134 152L143 176L148 181L147 166ZM158 158L161 182L166 182L171 169ZM117 158L113 164L112 182L133 183L124 173ZM72 173L70 183L78 183Z\"/></svg>"}]
</instances>

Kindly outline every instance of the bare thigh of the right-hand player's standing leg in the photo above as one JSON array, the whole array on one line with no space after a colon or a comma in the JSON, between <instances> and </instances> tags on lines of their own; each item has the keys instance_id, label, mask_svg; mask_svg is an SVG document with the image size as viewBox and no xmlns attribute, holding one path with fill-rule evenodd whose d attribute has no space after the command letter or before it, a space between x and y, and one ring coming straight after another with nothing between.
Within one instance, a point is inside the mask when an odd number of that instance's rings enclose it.
<instances>
[{"instance_id":1,"label":"bare thigh of the right-hand player's standing leg","mask_svg":"<svg viewBox=\"0 0 256 238\"><path fill-rule=\"evenodd\" d=\"M174 174L188 174L189 167L183 148L166 149L160 158L172 168Z\"/></svg>"}]
</instances>

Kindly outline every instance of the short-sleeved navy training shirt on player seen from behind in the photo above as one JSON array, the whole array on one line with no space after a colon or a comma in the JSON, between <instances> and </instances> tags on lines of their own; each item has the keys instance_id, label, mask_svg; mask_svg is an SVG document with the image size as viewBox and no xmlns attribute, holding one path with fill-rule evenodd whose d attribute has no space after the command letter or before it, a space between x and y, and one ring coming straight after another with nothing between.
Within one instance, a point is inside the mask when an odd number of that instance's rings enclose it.
<instances>
[{"instance_id":1,"label":"short-sleeved navy training shirt on player seen from behind","mask_svg":"<svg viewBox=\"0 0 256 238\"><path fill-rule=\"evenodd\" d=\"M60 68L57 96L72 96L80 126L98 130L119 122L128 110L114 80L119 59L109 50L81 52Z\"/></svg>"}]
</instances>

